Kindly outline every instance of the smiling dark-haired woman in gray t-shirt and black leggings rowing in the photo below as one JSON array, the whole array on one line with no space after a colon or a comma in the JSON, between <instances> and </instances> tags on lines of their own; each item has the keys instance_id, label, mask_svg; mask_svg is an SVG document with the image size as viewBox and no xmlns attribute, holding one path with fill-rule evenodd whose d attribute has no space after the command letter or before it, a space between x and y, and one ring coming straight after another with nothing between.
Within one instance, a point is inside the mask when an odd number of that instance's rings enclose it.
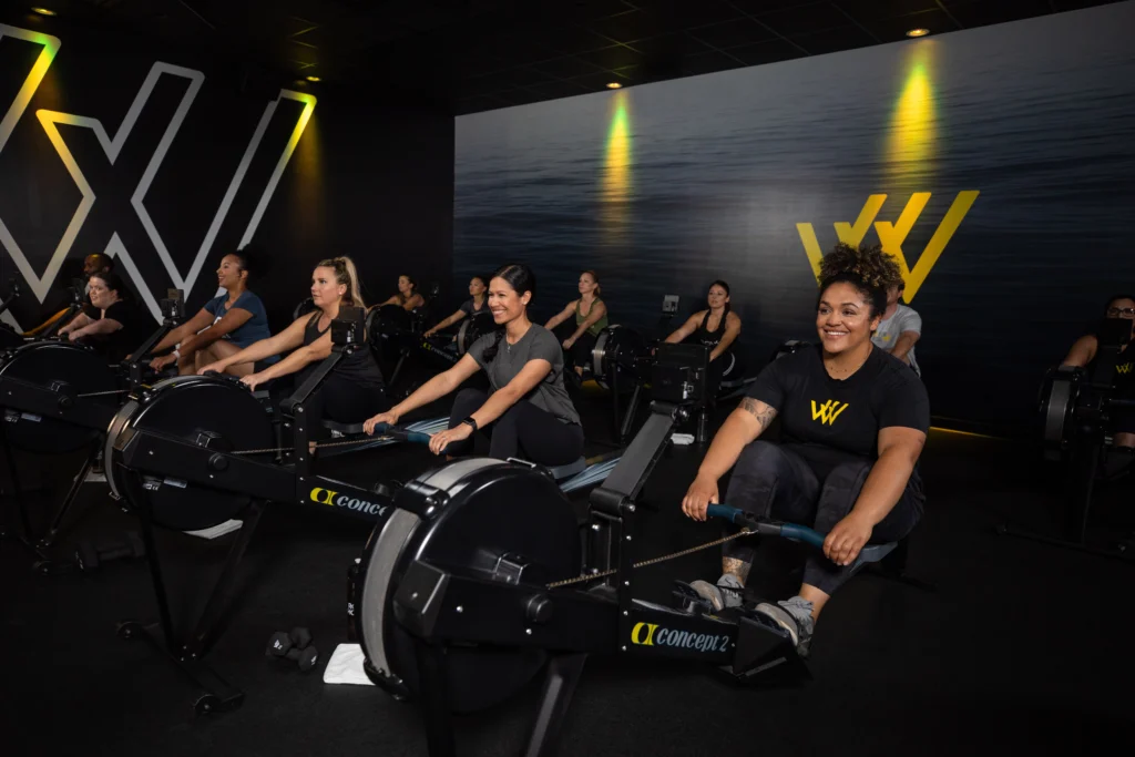
<instances>
[{"instance_id":1,"label":"smiling dark-haired woman in gray t-shirt and black leggings rowing","mask_svg":"<svg viewBox=\"0 0 1135 757\"><path fill-rule=\"evenodd\" d=\"M365 423L394 423L407 412L456 389L484 370L490 392L462 389L449 413L449 428L435 434L430 451L462 455L481 430L490 438L489 455L519 457L541 465L564 465L583 454L583 428L564 388L563 351L556 337L528 318L536 276L523 264L497 270L489 281L488 306L497 328L469 348L456 365Z\"/></svg>"}]
</instances>

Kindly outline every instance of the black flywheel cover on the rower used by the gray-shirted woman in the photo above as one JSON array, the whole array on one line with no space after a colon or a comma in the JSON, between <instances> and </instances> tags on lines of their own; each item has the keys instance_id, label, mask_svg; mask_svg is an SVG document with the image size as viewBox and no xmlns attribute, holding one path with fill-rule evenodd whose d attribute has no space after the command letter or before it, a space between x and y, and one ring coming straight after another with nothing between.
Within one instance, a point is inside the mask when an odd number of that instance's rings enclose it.
<instances>
[{"instance_id":1,"label":"black flywheel cover on the rower used by the gray-shirted woman","mask_svg":"<svg viewBox=\"0 0 1135 757\"><path fill-rule=\"evenodd\" d=\"M217 452L274 447L271 421L260 402L230 378L179 376L132 395L107 435L107 482L132 507L150 508L153 522L196 531L237 518L245 494L178 479L176 471L132 471L120 447L138 430L205 443ZM263 460L263 456L259 456Z\"/></svg>"}]
</instances>

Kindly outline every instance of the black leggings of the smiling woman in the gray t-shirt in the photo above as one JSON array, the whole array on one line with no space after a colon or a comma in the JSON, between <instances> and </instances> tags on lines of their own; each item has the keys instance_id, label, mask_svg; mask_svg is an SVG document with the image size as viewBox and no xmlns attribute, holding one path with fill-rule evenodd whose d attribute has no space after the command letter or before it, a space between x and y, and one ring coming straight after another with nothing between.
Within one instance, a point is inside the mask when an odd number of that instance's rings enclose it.
<instances>
[{"instance_id":1,"label":"black leggings of the smiling woman in the gray t-shirt","mask_svg":"<svg viewBox=\"0 0 1135 757\"><path fill-rule=\"evenodd\" d=\"M449 428L456 428L489 398L480 389L462 389L453 401ZM489 456L499 460L516 457L540 465L566 465L583 456L583 429L563 423L555 415L521 399L504 414L480 429L489 437ZM451 441L451 455L472 453L473 438Z\"/></svg>"}]
</instances>

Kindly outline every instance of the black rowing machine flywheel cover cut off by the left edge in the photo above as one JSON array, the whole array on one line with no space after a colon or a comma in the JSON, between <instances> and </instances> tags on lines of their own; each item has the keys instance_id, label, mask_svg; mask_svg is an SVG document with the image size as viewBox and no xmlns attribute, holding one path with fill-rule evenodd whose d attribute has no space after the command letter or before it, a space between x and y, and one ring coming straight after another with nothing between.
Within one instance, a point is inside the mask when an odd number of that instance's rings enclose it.
<instances>
[{"instance_id":1,"label":"black rowing machine flywheel cover cut off by the left edge","mask_svg":"<svg viewBox=\"0 0 1135 757\"><path fill-rule=\"evenodd\" d=\"M52 382L66 384L75 394L119 388L115 370L106 359L86 347L61 342L35 342L9 353L0 364L0 375L44 387ZM117 407L123 396L108 394L84 402ZM14 407L6 409L5 415L5 438L26 452L73 452L90 445L102 432L102 429L84 428L60 418L22 413Z\"/></svg>"}]
</instances>

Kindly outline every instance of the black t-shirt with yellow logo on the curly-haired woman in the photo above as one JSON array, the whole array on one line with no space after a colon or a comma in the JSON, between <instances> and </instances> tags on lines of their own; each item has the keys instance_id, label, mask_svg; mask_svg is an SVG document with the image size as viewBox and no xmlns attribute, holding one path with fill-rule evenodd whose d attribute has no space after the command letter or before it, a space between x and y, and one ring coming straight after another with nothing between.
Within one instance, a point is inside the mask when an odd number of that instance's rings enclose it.
<instances>
[{"instance_id":1,"label":"black t-shirt with yellow logo on the curly-haired woman","mask_svg":"<svg viewBox=\"0 0 1135 757\"><path fill-rule=\"evenodd\" d=\"M878 430L930 430L930 398L918 376L874 347L846 379L824 369L821 347L784 355L766 367L748 396L776 410L782 443L807 460L823 480L848 460L878 457Z\"/></svg>"}]
</instances>

